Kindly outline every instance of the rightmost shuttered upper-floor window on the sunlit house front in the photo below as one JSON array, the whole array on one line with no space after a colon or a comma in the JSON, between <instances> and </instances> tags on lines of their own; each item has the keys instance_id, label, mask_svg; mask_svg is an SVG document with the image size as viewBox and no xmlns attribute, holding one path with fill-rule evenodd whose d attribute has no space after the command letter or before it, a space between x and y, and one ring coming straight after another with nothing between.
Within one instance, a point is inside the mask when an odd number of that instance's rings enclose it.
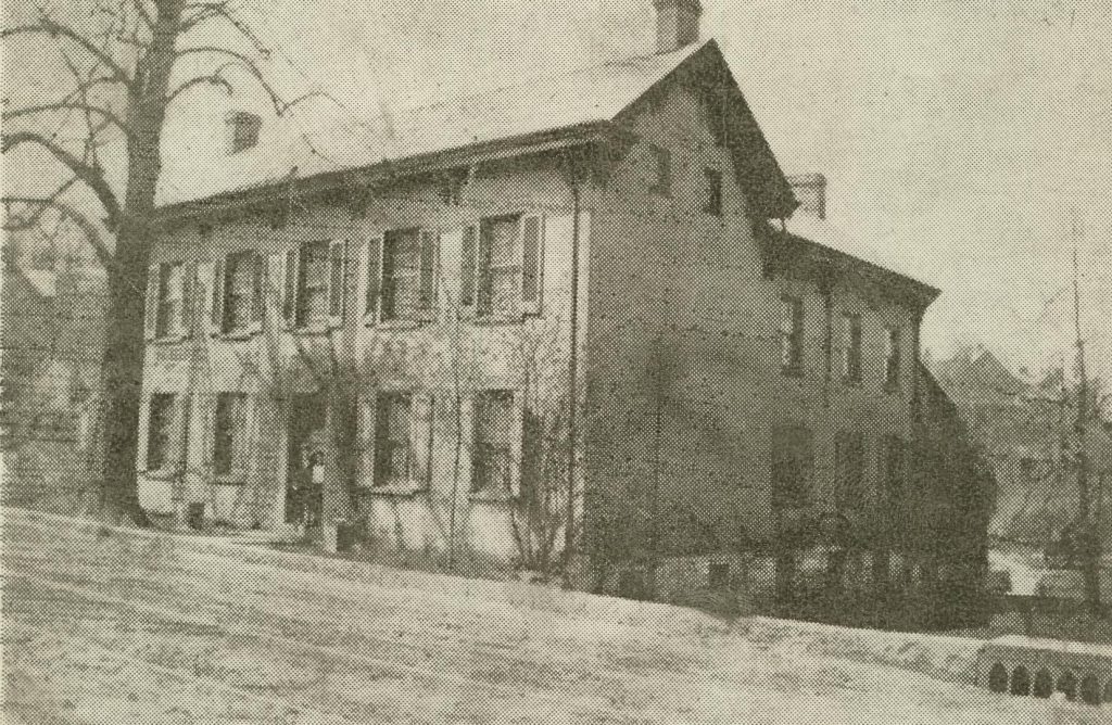
<instances>
[{"instance_id":1,"label":"rightmost shuttered upper-floor window on the sunlit house front","mask_svg":"<svg viewBox=\"0 0 1112 725\"><path fill-rule=\"evenodd\" d=\"M478 318L510 320L540 311L544 218L483 219L464 229L460 307Z\"/></svg>"}]
</instances>

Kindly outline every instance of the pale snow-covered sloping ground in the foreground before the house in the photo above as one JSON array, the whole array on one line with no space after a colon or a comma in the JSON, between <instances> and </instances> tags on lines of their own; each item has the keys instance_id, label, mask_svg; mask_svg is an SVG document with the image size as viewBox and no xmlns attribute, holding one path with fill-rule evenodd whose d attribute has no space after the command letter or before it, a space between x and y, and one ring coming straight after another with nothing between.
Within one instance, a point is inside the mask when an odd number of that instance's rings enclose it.
<instances>
[{"instance_id":1,"label":"pale snow-covered sloping ground in the foreground before the house","mask_svg":"<svg viewBox=\"0 0 1112 725\"><path fill-rule=\"evenodd\" d=\"M815 637L775 620L752 620L746 635L681 607L2 514L4 722L1034 725L1110 714L831 656L863 658L800 646Z\"/></svg>"}]
</instances>

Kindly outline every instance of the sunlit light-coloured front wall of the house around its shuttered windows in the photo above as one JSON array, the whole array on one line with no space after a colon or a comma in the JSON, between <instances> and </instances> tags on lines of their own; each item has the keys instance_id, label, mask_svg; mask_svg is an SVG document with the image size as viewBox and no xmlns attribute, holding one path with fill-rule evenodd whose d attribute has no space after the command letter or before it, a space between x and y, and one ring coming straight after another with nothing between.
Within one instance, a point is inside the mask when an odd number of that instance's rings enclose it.
<instances>
[{"instance_id":1,"label":"sunlit light-coloured front wall of the house around its shuttered windows","mask_svg":"<svg viewBox=\"0 0 1112 725\"><path fill-rule=\"evenodd\" d=\"M470 319L458 304L463 229L486 217L520 213L543 218L539 314L503 322ZM538 156L478 166L451 202L441 197L436 179L401 180L379 188L355 212L348 199L305 199L292 202L277 228L266 216L245 215L209 220L205 232L193 225L168 231L152 261L195 266L197 308L187 339L152 340L147 348L137 461L143 505L171 513L203 503L216 519L279 527L286 519L290 405L299 394L327 387L321 378L342 378L355 395L358 430L345 444L355 458L354 480L345 484L342 466L329 459L325 519L358 517L373 546L383 549L444 552L450 539L459 552L476 556L518 556L510 515L520 514L515 499L470 491L473 404L477 394L497 389L513 391L515 404L529 409L533 419L550 420L564 410L573 234L578 234L584 261L590 238L589 215L582 213L578 225L574 218L555 160ZM365 319L371 240L413 227L439 235L434 319ZM315 240L346 242L344 321L326 332L291 334L281 316L284 260L288 250ZM214 334L209 321L215 264L237 250L256 250L266 260L261 329L246 339ZM230 480L212 475L216 398L225 391L247 393L250 400L249 460ZM413 428L414 446L420 448L414 455L427 473L411 486L374 480L375 405L383 391L408 393L427 404ZM150 400L157 393L189 400L183 406L188 425L175 430L187 451L169 475L147 471L145 465ZM520 426L513 435L520 440Z\"/></svg>"}]
</instances>

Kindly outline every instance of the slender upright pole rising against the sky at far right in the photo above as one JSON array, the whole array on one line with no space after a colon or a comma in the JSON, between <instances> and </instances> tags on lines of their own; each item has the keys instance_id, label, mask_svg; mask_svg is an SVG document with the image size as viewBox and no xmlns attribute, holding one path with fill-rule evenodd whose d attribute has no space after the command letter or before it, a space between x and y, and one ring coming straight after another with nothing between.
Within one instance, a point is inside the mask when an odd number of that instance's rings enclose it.
<instances>
[{"instance_id":1,"label":"slender upright pole rising against the sky at far right","mask_svg":"<svg viewBox=\"0 0 1112 725\"><path fill-rule=\"evenodd\" d=\"M1089 448L1085 434L1089 428L1089 377L1085 370L1085 341L1081 336L1081 287L1078 280L1078 246L1081 238L1081 218L1076 209L1071 215L1073 238L1073 331L1078 365L1078 415L1073 433L1078 446L1078 534L1081 549L1081 569L1084 579L1085 604L1094 616L1101 616L1101 546L1092 522L1092 494L1089 489Z\"/></svg>"}]
</instances>

